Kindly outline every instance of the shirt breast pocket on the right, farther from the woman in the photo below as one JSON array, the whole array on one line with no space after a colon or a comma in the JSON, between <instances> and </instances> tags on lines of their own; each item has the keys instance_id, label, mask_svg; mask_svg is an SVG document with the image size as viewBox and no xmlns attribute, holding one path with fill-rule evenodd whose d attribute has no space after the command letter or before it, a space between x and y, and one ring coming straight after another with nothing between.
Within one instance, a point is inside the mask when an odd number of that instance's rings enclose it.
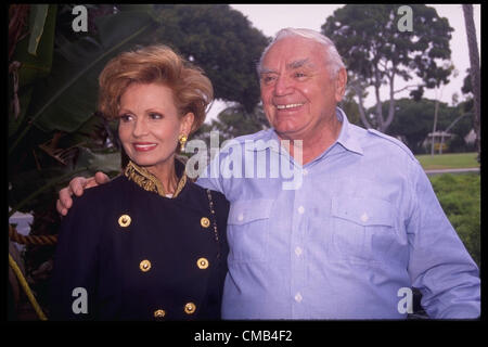
<instances>
[{"instance_id":1,"label":"shirt breast pocket on the right, farther from the woman","mask_svg":"<svg viewBox=\"0 0 488 347\"><path fill-rule=\"evenodd\" d=\"M381 261L395 241L393 205L378 198L336 196L332 200L331 260Z\"/></svg>"}]
</instances>

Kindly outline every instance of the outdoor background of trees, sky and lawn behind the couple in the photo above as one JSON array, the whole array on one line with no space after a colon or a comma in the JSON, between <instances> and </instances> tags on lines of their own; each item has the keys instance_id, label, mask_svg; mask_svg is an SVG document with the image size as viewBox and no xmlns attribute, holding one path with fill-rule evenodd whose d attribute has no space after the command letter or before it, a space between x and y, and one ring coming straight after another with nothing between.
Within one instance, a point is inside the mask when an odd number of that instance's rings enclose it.
<instances>
[{"instance_id":1,"label":"outdoor background of trees, sky and lawn behind the couple","mask_svg":"<svg viewBox=\"0 0 488 347\"><path fill-rule=\"evenodd\" d=\"M98 75L138 46L164 43L201 66L216 101L193 138L269 125L256 63L282 27L319 30L348 69L351 123L401 140L429 175L467 250L480 261L480 5L10 4L9 254L47 311L60 217L74 176L120 174L116 124L97 113ZM410 11L410 12L409 12ZM9 268L9 320L37 320Z\"/></svg>"}]
</instances>

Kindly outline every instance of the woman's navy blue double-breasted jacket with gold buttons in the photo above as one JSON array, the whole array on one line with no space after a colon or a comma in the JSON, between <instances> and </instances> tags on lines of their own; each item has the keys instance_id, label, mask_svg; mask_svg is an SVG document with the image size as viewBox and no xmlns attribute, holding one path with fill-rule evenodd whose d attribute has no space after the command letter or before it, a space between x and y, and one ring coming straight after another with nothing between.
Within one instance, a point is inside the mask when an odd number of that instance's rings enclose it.
<instances>
[{"instance_id":1,"label":"woman's navy blue double-breasted jacket with gold buttons","mask_svg":"<svg viewBox=\"0 0 488 347\"><path fill-rule=\"evenodd\" d=\"M191 181L175 198L125 176L86 190L62 222L50 319L219 319L229 202L211 201Z\"/></svg>"}]
</instances>

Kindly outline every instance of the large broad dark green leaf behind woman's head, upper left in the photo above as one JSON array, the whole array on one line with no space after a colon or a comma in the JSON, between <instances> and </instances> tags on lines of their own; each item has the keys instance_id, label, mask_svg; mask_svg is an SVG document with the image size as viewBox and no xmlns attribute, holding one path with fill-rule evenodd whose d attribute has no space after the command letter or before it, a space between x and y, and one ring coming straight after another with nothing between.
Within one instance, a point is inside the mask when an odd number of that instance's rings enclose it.
<instances>
[{"instance_id":1,"label":"large broad dark green leaf behind woman's head, upper left","mask_svg":"<svg viewBox=\"0 0 488 347\"><path fill-rule=\"evenodd\" d=\"M87 121L95 110L98 76L103 66L118 52L133 47L152 24L147 12L119 12L98 18L99 42L86 37L64 44L55 55L56 68L36 90L40 100L33 105L36 126L73 132ZM42 117L37 118L40 112Z\"/></svg>"}]
</instances>

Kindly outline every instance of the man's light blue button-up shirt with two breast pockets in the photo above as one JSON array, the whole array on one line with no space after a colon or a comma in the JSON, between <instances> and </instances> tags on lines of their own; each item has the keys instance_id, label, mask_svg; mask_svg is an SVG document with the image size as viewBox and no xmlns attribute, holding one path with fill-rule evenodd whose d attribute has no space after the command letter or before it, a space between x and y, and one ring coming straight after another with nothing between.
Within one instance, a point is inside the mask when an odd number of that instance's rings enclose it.
<instances>
[{"instance_id":1,"label":"man's light blue button-up shirt with two breast pockets","mask_svg":"<svg viewBox=\"0 0 488 347\"><path fill-rule=\"evenodd\" d=\"M234 139L198 179L231 203L222 318L402 319L412 286L432 318L478 317L478 268L419 162L336 114L337 140L305 166L269 129Z\"/></svg>"}]
</instances>

